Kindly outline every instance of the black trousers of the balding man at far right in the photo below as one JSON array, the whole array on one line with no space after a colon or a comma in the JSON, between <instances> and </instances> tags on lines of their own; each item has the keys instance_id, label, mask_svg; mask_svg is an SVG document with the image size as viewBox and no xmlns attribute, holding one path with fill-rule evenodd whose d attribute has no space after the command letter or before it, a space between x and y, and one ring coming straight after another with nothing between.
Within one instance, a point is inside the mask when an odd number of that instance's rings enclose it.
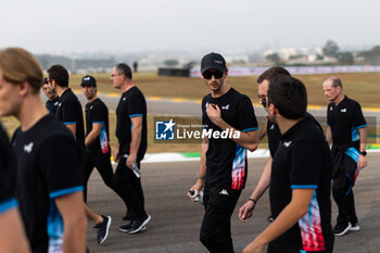
<instances>
[{"instance_id":1,"label":"black trousers of the balding man at far right","mask_svg":"<svg viewBox=\"0 0 380 253\"><path fill-rule=\"evenodd\" d=\"M353 187L355 185L356 162L344 155L338 166L332 181L332 197L338 205L337 224L354 225L357 223Z\"/></svg>"}]
</instances>

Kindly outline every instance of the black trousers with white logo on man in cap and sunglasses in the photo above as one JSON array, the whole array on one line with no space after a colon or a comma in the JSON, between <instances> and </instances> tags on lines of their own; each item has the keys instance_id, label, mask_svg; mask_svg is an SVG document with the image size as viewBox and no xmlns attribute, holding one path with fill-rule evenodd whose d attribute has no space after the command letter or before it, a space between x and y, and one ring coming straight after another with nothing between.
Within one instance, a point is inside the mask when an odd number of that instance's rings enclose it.
<instances>
[{"instance_id":1,"label":"black trousers with white logo on man in cap and sunglasses","mask_svg":"<svg viewBox=\"0 0 380 253\"><path fill-rule=\"evenodd\" d=\"M220 185L204 188L205 214L200 239L211 253L233 253L231 215L241 191Z\"/></svg>"}]
</instances>

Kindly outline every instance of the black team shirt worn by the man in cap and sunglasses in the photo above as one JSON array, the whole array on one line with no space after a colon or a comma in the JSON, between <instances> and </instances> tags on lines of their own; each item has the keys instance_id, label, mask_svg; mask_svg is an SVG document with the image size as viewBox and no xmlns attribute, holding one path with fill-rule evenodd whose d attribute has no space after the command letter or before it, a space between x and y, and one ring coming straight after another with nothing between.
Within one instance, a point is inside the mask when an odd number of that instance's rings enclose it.
<instances>
[{"instance_id":1,"label":"black team shirt worn by the man in cap and sunglasses","mask_svg":"<svg viewBox=\"0 0 380 253\"><path fill-rule=\"evenodd\" d=\"M219 98L207 94L202 101L203 130L221 131L207 116L206 106L217 104L221 118L240 131L257 130L257 121L251 100L233 88ZM227 138L208 138L206 153L206 184L221 184L231 189L243 189L248 174L246 149Z\"/></svg>"}]
</instances>

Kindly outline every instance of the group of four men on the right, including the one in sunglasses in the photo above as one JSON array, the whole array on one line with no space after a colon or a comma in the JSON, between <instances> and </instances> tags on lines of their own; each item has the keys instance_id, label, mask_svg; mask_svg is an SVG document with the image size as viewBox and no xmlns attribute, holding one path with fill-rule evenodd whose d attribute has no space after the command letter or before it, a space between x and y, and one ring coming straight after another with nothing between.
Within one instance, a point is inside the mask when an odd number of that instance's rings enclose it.
<instances>
[{"instance_id":1,"label":"group of four men on the right, including the one in sunglasses","mask_svg":"<svg viewBox=\"0 0 380 253\"><path fill-rule=\"evenodd\" d=\"M250 199L239 210L245 222L269 188L273 222L243 250L244 253L295 253L333 251L334 236L359 230L353 186L367 165L366 121L360 105L343 94L338 77L322 81L330 101L326 135L306 112L305 85L280 66L265 71L257 79L259 103L268 114L262 131L250 99L227 84L223 55L206 54L201 77L211 93L202 101L203 127L240 132L236 139L205 138L201 164L190 192L203 189L205 214L200 239L210 252L233 252L230 217L244 188L246 150L254 151L267 135L270 156ZM332 148L330 150L330 144ZM332 194L339 214L331 227Z\"/></svg>"}]
</instances>

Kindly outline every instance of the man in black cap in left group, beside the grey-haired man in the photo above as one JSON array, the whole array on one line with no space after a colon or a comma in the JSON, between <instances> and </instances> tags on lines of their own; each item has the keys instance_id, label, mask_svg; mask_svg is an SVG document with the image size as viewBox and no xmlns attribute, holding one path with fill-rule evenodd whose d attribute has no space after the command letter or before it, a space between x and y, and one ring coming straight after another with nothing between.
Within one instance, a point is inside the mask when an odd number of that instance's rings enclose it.
<instances>
[{"instance_id":1,"label":"man in black cap in left group, beside the grey-haired man","mask_svg":"<svg viewBox=\"0 0 380 253\"><path fill-rule=\"evenodd\" d=\"M88 100L86 104L86 172L87 181L96 167L104 184L113 189L113 169L111 165L109 109L97 96L97 80L93 76L85 76L80 84ZM85 191L86 192L86 191Z\"/></svg>"}]
</instances>

